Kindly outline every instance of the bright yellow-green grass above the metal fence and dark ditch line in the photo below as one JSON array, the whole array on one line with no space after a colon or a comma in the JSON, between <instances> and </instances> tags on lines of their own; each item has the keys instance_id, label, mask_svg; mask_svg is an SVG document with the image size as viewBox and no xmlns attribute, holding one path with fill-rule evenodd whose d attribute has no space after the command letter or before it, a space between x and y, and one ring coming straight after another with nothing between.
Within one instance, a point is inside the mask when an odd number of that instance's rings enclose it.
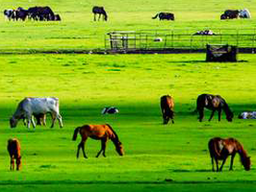
<instances>
[{"instance_id":1,"label":"bright yellow-green grass above the metal fence and dark ditch line","mask_svg":"<svg viewBox=\"0 0 256 192\"><path fill-rule=\"evenodd\" d=\"M104 48L104 37L113 30L190 30L193 34L203 29L251 29L255 28L256 1L168 1L157 0L99 0L99 1L38 1L26 0L3 2L2 9L23 6L51 6L59 13L61 22L8 22L0 20L1 51L35 50L83 50ZM109 15L107 22L94 22L91 7L104 6ZM220 20L226 8L250 9L251 19ZM157 12L170 11L176 14L176 21L152 19ZM218 31L215 31L218 32ZM236 31L234 32L236 34ZM185 42L184 42L185 43Z\"/></svg>"}]
</instances>

